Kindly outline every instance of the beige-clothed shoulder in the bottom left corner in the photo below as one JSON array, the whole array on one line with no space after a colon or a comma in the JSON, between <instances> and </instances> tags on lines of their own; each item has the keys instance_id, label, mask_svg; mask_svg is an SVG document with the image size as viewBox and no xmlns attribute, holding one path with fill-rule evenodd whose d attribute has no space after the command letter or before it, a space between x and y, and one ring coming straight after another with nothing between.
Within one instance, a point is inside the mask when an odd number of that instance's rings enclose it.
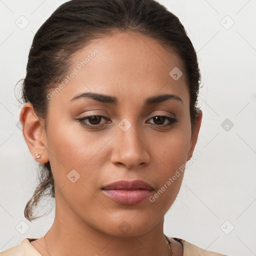
<instances>
[{"instance_id":1,"label":"beige-clothed shoulder in the bottom left corner","mask_svg":"<svg viewBox=\"0 0 256 256\"><path fill-rule=\"evenodd\" d=\"M17 245L0 251L0 256L41 256L41 254L32 246L30 240L34 239L22 239Z\"/></svg>"}]
</instances>

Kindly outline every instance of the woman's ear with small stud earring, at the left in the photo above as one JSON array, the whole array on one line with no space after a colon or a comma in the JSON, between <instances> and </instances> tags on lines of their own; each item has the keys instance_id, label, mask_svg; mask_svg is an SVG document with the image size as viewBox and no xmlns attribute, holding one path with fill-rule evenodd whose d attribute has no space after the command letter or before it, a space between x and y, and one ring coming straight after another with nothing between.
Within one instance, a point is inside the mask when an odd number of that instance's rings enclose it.
<instances>
[{"instance_id":1,"label":"woman's ear with small stud earring, at the left","mask_svg":"<svg viewBox=\"0 0 256 256\"><path fill-rule=\"evenodd\" d=\"M27 102L23 105L19 120L22 125L24 139L33 158L39 163L48 162L44 121L37 117L31 103ZM36 158L35 153L40 154L41 158Z\"/></svg>"}]
</instances>

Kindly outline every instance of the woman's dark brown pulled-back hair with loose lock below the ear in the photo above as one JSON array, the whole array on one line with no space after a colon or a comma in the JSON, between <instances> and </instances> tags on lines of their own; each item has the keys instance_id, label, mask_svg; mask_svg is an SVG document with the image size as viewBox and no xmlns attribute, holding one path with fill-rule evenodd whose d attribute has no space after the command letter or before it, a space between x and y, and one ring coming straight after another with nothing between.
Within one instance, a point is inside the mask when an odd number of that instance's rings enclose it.
<instances>
[{"instance_id":1,"label":"woman's dark brown pulled-back hair with loose lock below the ear","mask_svg":"<svg viewBox=\"0 0 256 256\"><path fill-rule=\"evenodd\" d=\"M196 52L179 19L155 0L70 0L60 5L34 35L22 82L22 102L30 102L47 127L47 93L67 74L76 51L94 38L135 31L174 51L184 64L190 93L191 130L196 124L200 71ZM47 193L48 191L48 193ZM45 194L55 197L50 163L39 165L39 184L26 203L25 217Z\"/></svg>"}]
</instances>

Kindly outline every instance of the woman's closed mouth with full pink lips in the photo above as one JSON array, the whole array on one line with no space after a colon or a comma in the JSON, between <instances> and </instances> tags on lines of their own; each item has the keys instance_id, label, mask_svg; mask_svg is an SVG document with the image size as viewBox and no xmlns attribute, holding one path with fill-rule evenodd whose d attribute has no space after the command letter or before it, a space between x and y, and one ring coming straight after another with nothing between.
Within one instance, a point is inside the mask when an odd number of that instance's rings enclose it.
<instances>
[{"instance_id":1,"label":"woman's closed mouth with full pink lips","mask_svg":"<svg viewBox=\"0 0 256 256\"><path fill-rule=\"evenodd\" d=\"M153 192L153 187L142 180L119 180L101 188L112 200L121 204L137 204Z\"/></svg>"}]
</instances>

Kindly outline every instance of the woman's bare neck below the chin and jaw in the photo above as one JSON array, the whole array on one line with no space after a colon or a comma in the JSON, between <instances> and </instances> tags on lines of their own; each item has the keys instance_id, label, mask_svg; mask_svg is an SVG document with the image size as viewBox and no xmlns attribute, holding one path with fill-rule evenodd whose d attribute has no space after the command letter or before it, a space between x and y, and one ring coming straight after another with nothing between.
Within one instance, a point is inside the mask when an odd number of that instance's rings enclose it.
<instances>
[{"instance_id":1,"label":"woman's bare neck below the chin and jaw","mask_svg":"<svg viewBox=\"0 0 256 256\"><path fill-rule=\"evenodd\" d=\"M45 234L45 241L52 256L171 255L163 234L163 218L144 234L114 236L81 221L70 209L59 211L57 204L55 218Z\"/></svg>"}]
</instances>

